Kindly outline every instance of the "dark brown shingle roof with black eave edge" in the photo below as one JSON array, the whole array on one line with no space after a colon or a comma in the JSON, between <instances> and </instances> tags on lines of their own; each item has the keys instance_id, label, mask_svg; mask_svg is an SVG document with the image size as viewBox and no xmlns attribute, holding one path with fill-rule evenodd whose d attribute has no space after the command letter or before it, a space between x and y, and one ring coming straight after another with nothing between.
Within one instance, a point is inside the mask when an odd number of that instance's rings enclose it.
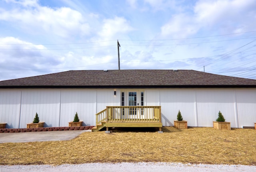
<instances>
[{"instance_id":1,"label":"dark brown shingle roof with black eave edge","mask_svg":"<svg viewBox=\"0 0 256 172\"><path fill-rule=\"evenodd\" d=\"M194 70L84 70L0 81L0 88L15 87L256 87L256 80Z\"/></svg>"}]
</instances>

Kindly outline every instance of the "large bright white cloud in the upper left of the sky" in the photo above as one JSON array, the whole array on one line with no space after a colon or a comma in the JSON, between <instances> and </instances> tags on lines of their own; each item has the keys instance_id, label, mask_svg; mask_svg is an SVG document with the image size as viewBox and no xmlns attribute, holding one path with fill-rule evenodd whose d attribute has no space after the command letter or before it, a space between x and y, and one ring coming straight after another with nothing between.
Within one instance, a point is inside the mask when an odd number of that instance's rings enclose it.
<instances>
[{"instance_id":1,"label":"large bright white cloud in the upper left of the sky","mask_svg":"<svg viewBox=\"0 0 256 172\"><path fill-rule=\"evenodd\" d=\"M0 11L0 20L19 26L24 32L54 34L62 38L90 34L90 26L86 20L94 16L89 14L87 17L66 7L53 9L36 6L34 9L16 8Z\"/></svg>"}]
</instances>

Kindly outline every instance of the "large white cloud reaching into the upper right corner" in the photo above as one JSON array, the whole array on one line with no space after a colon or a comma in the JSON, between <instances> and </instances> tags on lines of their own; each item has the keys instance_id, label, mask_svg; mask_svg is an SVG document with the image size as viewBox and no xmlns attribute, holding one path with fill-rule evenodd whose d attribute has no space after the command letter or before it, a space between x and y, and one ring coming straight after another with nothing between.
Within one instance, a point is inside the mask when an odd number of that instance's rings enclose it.
<instances>
[{"instance_id":1,"label":"large white cloud reaching into the upper right corner","mask_svg":"<svg viewBox=\"0 0 256 172\"><path fill-rule=\"evenodd\" d=\"M218 34L255 30L256 3L254 0L200 0L191 12L175 14L161 27L161 35L187 38L204 29ZM218 30L217 30L218 29ZM231 30L232 29L232 30Z\"/></svg>"}]
</instances>

